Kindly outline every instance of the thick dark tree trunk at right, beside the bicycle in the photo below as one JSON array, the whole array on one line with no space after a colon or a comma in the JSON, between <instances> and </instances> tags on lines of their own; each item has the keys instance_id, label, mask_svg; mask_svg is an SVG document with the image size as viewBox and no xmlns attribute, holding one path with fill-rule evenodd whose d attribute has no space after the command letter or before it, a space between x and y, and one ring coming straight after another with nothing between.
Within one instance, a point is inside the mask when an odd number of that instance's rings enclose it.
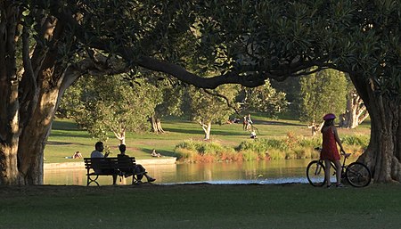
<instances>
[{"instance_id":1,"label":"thick dark tree trunk at right, beside the bicycle","mask_svg":"<svg viewBox=\"0 0 401 229\"><path fill-rule=\"evenodd\" d=\"M358 160L371 169L375 182L401 182L401 106L397 99L376 92L361 78L351 79L364 99L372 123L370 143Z\"/></svg>"}]
</instances>

